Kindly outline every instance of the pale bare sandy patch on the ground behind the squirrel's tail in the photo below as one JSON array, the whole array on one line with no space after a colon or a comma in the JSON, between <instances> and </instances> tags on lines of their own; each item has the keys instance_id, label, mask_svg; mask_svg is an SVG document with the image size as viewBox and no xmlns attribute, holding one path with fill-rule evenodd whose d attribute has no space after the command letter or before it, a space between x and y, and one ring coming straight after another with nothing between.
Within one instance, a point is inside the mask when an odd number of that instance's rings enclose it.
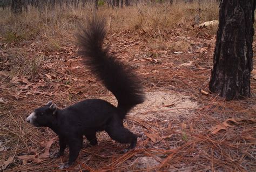
<instances>
[{"instance_id":1,"label":"pale bare sandy patch on the ground behind the squirrel's tail","mask_svg":"<svg viewBox=\"0 0 256 172\"><path fill-rule=\"evenodd\" d=\"M180 115L193 115L193 110L199 107L198 102L183 93L147 92L145 102L134 107L129 116L146 121L156 119L167 121Z\"/></svg>"}]
</instances>

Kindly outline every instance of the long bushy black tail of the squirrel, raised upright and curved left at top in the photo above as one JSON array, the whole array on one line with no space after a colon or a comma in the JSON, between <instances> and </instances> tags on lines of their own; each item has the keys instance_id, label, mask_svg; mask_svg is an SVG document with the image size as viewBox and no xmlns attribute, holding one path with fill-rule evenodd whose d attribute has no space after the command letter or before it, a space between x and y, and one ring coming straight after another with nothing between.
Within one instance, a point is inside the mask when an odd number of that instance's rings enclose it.
<instances>
[{"instance_id":1,"label":"long bushy black tail of the squirrel, raised upright and curved left at top","mask_svg":"<svg viewBox=\"0 0 256 172\"><path fill-rule=\"evenodd\" d=\"M105 19L97 16L88 19L86 27L78 35L79 54L85 65L90 67L107 90L117 98L118 108L123 110L124 118L132 107L144 101L144 93L131 68L111 56L108 48L103 48L105 36Z\"/></svg>"}]
</instances>

